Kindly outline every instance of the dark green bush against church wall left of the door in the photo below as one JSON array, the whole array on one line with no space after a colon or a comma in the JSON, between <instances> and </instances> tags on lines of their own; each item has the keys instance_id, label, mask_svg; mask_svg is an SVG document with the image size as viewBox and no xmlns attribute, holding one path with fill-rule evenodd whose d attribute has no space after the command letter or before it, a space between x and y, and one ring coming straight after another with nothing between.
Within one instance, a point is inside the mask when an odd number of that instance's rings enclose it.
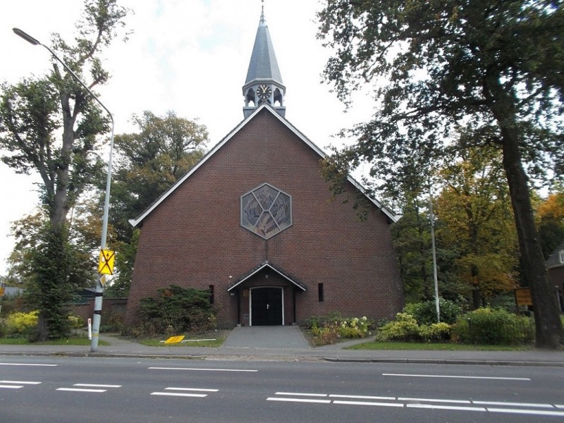
<instances>
[{"instance_id":1,"label":"dark green bush against church wall left of the door","mask_svg":"<svg viewBox=\"0 0 564 423\"><path fill-rule=\"evenodd\" d=\"M209 304L209 291L171 285L160 288L157 298L140 302L137 334L172 335L214 329L216 318Z\"/></svg>"}]
</instances>

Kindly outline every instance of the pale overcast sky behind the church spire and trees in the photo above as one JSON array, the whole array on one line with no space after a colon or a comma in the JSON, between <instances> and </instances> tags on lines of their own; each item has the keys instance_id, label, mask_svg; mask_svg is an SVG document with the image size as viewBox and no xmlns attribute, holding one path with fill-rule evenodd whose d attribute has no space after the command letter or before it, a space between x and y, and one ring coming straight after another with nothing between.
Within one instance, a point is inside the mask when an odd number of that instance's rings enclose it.
<instances>
[{"instance_id":1,"label":"pale overcast sky behind the church spire and trees","mask_svg":"<svg viewBox=\"0 0 564 423\"><path fill-rule=\"evenodd\" d=\"M175 111L198 119L209 130L209 147L243 120L242 87L259 25L260 0L118 0L133 10L127 18L133 30L128 42L116 39L104 54L109 83L97 88L102 103L114 114L116 133L134 130L133 114ZM50 68L49 52L32 46L13 32L19 27L43 44L52 32L73 41L79 0L9 1L0 13L0 81L16 83ZM286 85L286 118L327 151L341 145L331 138L341 128L372 114L367 96L353 109L344 106L321 83L330 52L316 39L317 0L265 0L266 24ZM18 176L0 164L0 274L13 249L9 227L37 204L37 176ZM111 206L110 206L111 207ZM111 208L110 208L111 213ZM132 216L133 217L133 216Z\"/></svg>"}]
</instances>

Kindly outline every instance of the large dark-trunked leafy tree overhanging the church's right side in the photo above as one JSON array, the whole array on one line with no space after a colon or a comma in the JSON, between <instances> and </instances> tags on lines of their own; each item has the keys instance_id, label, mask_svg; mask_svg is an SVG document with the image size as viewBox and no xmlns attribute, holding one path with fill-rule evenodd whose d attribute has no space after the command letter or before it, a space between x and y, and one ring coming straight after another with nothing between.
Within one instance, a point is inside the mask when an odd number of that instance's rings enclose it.
<instances>
[{"instance_id":1,"label":"large dark-trunked leafy tree overhanging the church's right side","mask_svg":"<svg viewBox=\"0 0 564 423\"><path fill-rule=\"evenodd\" d=\"M379 101L373 120L357 126L357 143L340 158L373 162L374 176L390 185L401 176L396 170L403 157L427 157L429 164L449 147L467 147L451 139L461 122L480 135L474 137L477 147L501 148L532 291L537 346L561 348L564 329L548 283L528 182L544 169L563 175L563 1L323 4L319 37L334 51L324 77L345 100L351 90L374 82Z\"/></svg>"}]
</instances>

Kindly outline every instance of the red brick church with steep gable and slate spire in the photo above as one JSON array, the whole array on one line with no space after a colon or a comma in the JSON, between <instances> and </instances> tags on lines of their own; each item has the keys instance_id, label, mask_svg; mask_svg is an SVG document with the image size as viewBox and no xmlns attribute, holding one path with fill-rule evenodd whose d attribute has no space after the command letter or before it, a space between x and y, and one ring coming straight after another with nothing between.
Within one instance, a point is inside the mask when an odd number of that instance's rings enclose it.
<instances>
[{"instance_id":1,"label":"red brick church with steep gable and slate spire","mask_svg":"<svg viewBox=\"0 0 564 423\"><path fill-rule=\"evenodd\" d=\"M244 119L130 223L141 228L125 315L173 285L210 291L219 327L309 317L391 319L403 307L393 213L353 178L331 201L326 154L286 119L264 8L243 85ZM314 111L312 111L314 113Z\"/></svg>"}]
</instances>

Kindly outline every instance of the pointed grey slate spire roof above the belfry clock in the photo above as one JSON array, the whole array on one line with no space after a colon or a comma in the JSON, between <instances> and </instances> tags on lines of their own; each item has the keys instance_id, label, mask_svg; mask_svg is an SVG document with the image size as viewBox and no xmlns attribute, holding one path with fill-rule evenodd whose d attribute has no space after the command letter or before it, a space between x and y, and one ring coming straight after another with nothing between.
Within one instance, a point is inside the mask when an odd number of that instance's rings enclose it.
<instances>
[{"instance_id":1,"label":"pointed grey slate spire roof above the belfry clock","mask_svg":"<svg viewBox=\"0 0 564 423\"><path fill-rule=\"evenodd\" d=\"M264 3L260 14L259 27L255 37L255 46L252 48L251 61L247 71L245 85L254 80L274 80L282 84L282 75L274 47L270 38L269 27L264 19Z\"/></svg>"}]
</instances>

